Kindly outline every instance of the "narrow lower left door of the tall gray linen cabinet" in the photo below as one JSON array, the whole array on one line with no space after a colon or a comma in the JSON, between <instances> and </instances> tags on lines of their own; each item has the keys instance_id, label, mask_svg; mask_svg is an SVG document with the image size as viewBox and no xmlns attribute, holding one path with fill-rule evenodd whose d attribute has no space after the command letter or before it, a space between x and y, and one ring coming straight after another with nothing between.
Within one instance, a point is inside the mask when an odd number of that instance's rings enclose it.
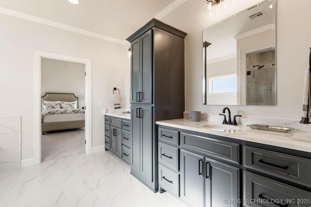
<instances>
[{"instance_id":1,"label":"narrow lower left door of the tall gray linen cabinet","mask_svg":"<svg viewBox=\"0 0 311 207\"><path fill-rule=\"evenodd\" d=\"M139 175L139 137L140 137L140 118L138 106L131 106L131 173Z\"/></svg>"}]
</instances>

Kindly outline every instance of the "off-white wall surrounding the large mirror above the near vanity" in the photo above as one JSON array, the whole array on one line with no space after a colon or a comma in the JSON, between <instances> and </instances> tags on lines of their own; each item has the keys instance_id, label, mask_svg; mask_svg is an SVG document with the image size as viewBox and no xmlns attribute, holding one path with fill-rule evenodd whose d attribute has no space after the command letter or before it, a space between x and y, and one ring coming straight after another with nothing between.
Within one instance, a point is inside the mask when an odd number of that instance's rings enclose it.
<instances>
[{"instance_id":1,"label":"off-white wall surrounding the large mirror above the near vanity","mask_svg":"<svg viewBox=\"0 0 311 207\"><path fill-rule=\"evenodd\" d=\"M216 16L204 15L205 0L187 0L161 20L188 32L186 37L186 111L219 113L224 106L202 104L202 29L231 16L259 0L233 0L227 11L216 9ZM293 4L291 0L276 2L276 106L230 106L233 114L266 117L301 117L304 72L309 68L311 47L311 1ZM291 11L291 14L288 14Z\"/></svg>"}]
</instances>

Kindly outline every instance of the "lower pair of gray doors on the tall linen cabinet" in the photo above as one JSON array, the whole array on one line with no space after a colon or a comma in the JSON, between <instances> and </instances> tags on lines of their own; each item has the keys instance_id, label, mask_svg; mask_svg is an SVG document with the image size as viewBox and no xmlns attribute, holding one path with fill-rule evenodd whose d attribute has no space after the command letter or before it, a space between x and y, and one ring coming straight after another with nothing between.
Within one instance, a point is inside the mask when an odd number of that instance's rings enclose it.
<instances>
[{"instance_id":1,"label":"lower pair of gray doors on the tall linen cabinet","mask_svg":"<svg viewBox=\"0 0 311 207\"><path fill-rule=\"evenodd\" d=\"M132 145L131 173L144 183L150 184L153 177L153 125L152 107L137 106L131 108Z\"/></svg>"}]
</instances>

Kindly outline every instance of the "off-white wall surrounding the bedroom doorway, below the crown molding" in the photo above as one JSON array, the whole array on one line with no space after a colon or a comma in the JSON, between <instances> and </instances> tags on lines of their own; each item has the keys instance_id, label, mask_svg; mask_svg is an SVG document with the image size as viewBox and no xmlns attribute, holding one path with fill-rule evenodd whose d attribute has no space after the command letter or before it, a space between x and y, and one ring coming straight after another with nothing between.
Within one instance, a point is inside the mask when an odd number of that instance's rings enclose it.
<instances>
[{"instance_id":1,"label":"off-white wall surrounding the bedroom doorway, below the crown molding","mask_svg":"<svg viewBox=\"0 0 311 207\"><path fill-rule=\"evenodd\" d=\"M92 60L93 147L104 145L103 109L113 107L113 87L123 99L127 48L6 15L0 15L0 28L0 116L21 115L22 159L34 157L34 50Z\"/></svg>"}]
</instances>

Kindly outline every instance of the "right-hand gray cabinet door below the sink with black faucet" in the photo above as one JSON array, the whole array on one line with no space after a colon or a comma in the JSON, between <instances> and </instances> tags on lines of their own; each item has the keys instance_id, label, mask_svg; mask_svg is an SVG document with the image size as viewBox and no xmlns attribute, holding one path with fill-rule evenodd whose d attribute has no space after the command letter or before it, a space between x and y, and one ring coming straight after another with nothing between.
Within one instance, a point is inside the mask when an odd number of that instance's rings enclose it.
<instances>
[{"instance_id":1,"label":"right-hand gray cabinet door below the sink with black faucet","mask_svg":"<svg viewBox=\"0 0 311 207\"><path fill-rule=\"evenodd\" d=\"M205 158L205 207L238 207L224 200L240 198L239 169Z\"/></svg>"}]
</instances>

